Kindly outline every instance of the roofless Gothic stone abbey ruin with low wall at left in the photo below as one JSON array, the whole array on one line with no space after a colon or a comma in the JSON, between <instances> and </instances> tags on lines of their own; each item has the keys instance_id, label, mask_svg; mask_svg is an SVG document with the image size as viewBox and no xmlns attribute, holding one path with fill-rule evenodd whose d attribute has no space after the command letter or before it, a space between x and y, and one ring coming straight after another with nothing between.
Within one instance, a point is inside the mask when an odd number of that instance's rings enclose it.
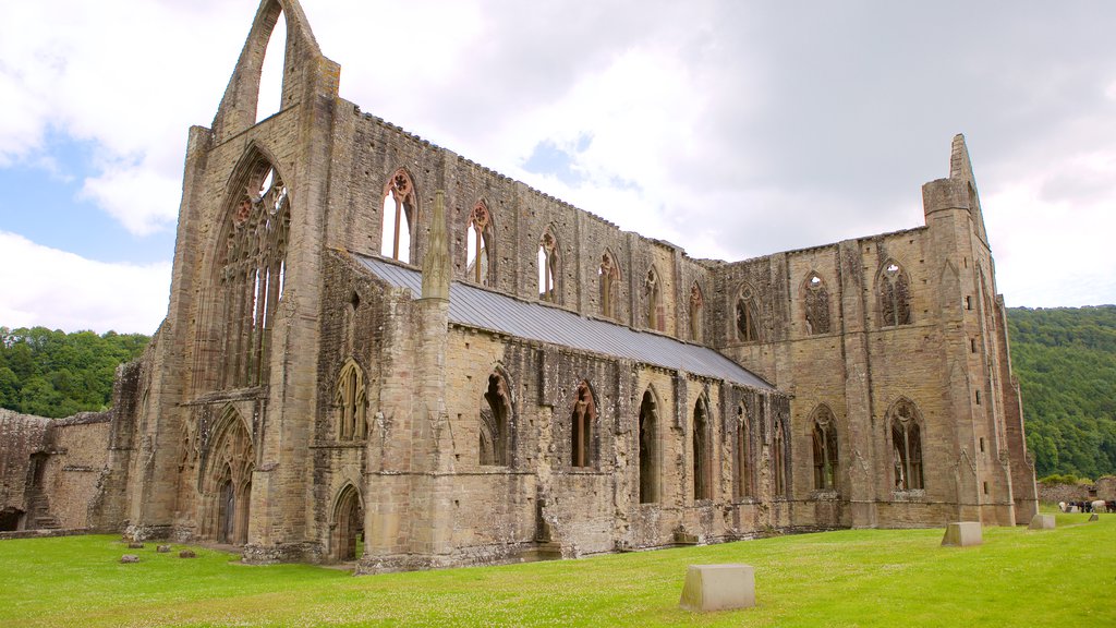
<instances>
[{"instance_id":1,"label":"roofless Gothic stone abbey ruin with low wall at left","mask_svg":"<svg viewBox=\"0 0 1116 628\"><path fill-rule=\"evenodd\" d=\"M1037 512L960 135L925 225L718 261L338 80L297 0L263 0L190 130L167 317L113 409L0 413L6 529L377 572Z\"/></svg>"}]
</instances>

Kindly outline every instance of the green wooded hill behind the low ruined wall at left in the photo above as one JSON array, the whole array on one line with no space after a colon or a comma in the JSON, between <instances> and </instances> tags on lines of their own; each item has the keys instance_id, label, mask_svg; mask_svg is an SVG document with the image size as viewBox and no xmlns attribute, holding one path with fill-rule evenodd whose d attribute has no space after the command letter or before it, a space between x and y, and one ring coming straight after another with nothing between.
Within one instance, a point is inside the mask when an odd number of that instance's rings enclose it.
<instances>
[{"instance_id":1,"label":"green wooded hill behind the low ruined wall at left","mask_svg":"<svg viewBox=\"0 0 1116 628\"><path fill-rule=\"evenodd\" d=\"M0 327L0 407L40 417L104 410L116 367L143 353L148 336Z\"/></svg>"}]
</instances>

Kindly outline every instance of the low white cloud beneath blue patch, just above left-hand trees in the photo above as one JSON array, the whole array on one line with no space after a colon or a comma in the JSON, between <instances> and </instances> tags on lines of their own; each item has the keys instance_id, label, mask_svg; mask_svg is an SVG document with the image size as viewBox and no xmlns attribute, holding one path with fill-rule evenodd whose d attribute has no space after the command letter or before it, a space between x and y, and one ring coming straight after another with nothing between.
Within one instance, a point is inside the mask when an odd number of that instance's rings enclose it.
<instances>
[{"instance_id":1,"label":"low white cloud beneath blue patch, just above left-hand trees","mask_svg":"<svg viewBox=\"0 0 1116 628\"><path fill-rule=\"evenodd\" d=\"M166 316L171 265L92 261L0 231L0 325L154 333Z\"/></svg>"}]
</instances>

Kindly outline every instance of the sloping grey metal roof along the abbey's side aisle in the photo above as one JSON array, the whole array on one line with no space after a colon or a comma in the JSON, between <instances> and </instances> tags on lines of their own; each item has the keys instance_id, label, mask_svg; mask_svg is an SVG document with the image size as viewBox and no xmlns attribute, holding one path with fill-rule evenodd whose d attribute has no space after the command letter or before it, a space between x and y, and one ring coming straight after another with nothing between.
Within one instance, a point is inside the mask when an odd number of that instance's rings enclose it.
<instances>
[{"instance_id":1,"label":"sloping grey metal roof along the abbey's side aisle","mask_svg":"<svg viewBox=\"0 0 1116 628\"><path fill-rule=\"evenodd\" d=\"M422 294L422 275L375 257L354 255L365 268L395 287ZM581 351L603 353L760 389L771 386L705 346L641 332L560 307L527 302L470 284L450 284L450 322Z\"/></svg>"}]
</instances>

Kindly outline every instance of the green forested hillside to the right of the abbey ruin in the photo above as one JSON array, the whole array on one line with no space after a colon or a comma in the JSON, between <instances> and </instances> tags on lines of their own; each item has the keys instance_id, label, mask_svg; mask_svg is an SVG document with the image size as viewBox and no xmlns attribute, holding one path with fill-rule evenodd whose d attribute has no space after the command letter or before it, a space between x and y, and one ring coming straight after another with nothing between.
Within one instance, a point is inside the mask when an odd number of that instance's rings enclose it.
<instances>
[{"instance_id":1,"label":"green forested hillside to the right of the abbey ruin","mask_svg":"<svg viewBox=\"0 0 1116 628\"><path fill-rule=\"evenodd\" d=\"M1008 310L1039 477L1116 474L1116 305Z\"/></svg>"}]
</instances>

